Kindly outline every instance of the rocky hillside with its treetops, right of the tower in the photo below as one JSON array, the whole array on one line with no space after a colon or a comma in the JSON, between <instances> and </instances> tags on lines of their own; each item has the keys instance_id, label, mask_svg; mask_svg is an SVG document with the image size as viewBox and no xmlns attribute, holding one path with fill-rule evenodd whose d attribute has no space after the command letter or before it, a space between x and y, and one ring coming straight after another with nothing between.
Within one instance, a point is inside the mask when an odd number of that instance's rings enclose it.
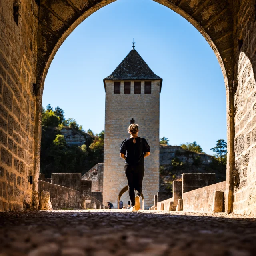
<instances>
[{"instance_id":1,"label":"rocky hillside with its treetops, right of the tower","mask_svg":"<svg viewBox=\"0 0 256 256\"><path fill-rule=\"evenodd\" d=\"M181 180L182 173L215 173L216 182L226 180L226 142L218 140L212 150L214 156L205 154L196 142L170 146L168 138L161 138L159 190L172 192L172 182Z\"/></svg>"}]
</instances>

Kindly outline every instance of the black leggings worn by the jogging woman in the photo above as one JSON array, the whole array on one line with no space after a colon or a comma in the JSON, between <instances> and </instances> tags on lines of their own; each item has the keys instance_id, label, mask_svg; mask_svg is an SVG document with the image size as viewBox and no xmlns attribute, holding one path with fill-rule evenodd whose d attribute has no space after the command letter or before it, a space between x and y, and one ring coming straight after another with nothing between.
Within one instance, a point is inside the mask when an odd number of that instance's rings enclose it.
<instances>
[{"instance_id":1,"label":"black leggings worn by the jogging woman","mask_svg":"<svg viewBox=\"0 0 256 256\"><path fill-rule=\"evenodd\" d=\"M144 177L144 164L138 166L124 166L124 172L128 181L128 193L131 199L132 206L135 205L135 196L140 196L142 192L142 181ZM135 194L134 194L135 190Z\"/></svg>"}]
</instances>

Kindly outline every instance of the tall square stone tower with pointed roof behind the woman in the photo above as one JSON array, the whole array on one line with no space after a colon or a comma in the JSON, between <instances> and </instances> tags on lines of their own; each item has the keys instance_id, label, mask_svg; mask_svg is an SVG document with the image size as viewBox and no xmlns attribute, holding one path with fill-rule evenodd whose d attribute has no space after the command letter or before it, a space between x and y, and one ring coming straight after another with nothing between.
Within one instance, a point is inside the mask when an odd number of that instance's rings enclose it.
<instances>
[{"instance_id":1,"label":"tall square stone tower with pointed roof behind the woman","mask_svg":"<svg viewBox=\"0 0 256 256\"><path fill-rule=\"evenodd\" d=\"M139 125L138 136L145 138L151 154L145 158L142 198L144 209L154 203L159 189L159 94L162 78L154 74L134 49L104 80L106 92L103 204L118 202L127 191L124 160L120 145L130 136L127 127Z\"/></svg>"}]
</instances>

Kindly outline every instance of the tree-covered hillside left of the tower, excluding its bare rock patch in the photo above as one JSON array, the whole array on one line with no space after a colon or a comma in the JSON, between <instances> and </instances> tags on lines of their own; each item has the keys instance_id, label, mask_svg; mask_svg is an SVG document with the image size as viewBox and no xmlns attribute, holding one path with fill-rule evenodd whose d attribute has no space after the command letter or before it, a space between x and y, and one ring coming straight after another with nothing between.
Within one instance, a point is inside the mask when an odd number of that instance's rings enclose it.
<instances>
[{"instance_id":1,"label":"tree-covered hillside left of the tower, excluding its bare rock patch","mask_svg":"<svg viewBox=\"0 0 256 256\"><path fill-rule=\"evenodd\" d=\"M64 138L62 130L71 130L73 134L84 137L84 144L70 145ZM48 104L42 108L42 140L40 172L50 178L55 172L86 173L99 162L103 162L104 131L86 133L74 118L66 119L64 110L55 110Z\"/></svg>"}]
</instances>

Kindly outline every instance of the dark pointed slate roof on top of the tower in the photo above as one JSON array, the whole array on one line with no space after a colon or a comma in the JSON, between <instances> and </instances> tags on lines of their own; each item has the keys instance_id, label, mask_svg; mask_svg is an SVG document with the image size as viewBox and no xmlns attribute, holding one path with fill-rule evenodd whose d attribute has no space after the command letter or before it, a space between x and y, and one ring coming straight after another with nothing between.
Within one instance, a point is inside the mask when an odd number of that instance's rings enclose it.
<instances>
[{"instance_id":1,"label":"dark pointed slate roof on top of the tower","mask_svg":"<svg viewBox=\"0 0 256 256\"><path fill-rule=\"evenodd\" d=\"M103 79L105 80L161 80L162 78L154 74L148 64L142 59L136 50L131 50L114 72Z\"/></svg>"}]
</instances>

